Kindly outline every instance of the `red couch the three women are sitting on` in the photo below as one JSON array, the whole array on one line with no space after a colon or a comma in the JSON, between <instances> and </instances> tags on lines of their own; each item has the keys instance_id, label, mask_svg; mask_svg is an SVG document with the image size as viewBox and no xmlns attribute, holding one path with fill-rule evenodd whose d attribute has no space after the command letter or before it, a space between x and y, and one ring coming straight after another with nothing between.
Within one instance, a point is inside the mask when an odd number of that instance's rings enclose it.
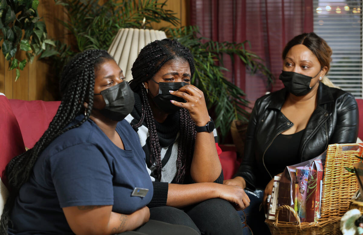
<instances>
[{"instance_id":1,"label":"red couch the three women are sitting on","mask_svg":"<svg viewBox=\"0 0 363 235\"><path fill-rule=\"evenodd\" d=\"M357 99L359 117L363 117L363 100ZM7 99L0 95L0 172L3 172L10 159L24 151L24 145L32 148L57 112L60 102L42 100L25 101ZM6 123L6 125L4 125ZM360 120L363 123L363 119ZM358 137L363 139L363 124L359 127ZM236 149L233 146L220 145L220 161L224 178L230 179L240 162L237 161Z\"/></svg>"}]
</instances>

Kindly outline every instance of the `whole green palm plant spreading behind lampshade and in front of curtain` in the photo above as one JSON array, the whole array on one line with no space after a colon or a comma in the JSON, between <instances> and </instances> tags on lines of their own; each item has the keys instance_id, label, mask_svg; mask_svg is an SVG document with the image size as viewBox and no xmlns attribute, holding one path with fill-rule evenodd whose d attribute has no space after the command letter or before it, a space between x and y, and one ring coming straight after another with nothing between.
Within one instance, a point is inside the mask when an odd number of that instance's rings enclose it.
<instances>
[{"instance_id":1,"label":"whole green palm plant spreading behind lampshade and in front of curtain","mask_svg":"<svg viewBox=\"0 0 363 235\"><path fill-rule=\"evenodd\" d=\"M151 22L167 21L176 26L179 19L175 13L165 10L164 3L157 0L55 0L64 6L69 20L62 24L70 30L76 39L76 44L70 45L56 42L57 54L53 56L53 65L60 70L66 59L73 54L86 49L107 50L119 28L151 28ZM142 25L143 18L146 25ZM206 98L208 108L213 108L212 115L216 127L219 128L222 139L227 135L233 119L246 120L248 101L244 99L244 92L229 82L223 74L223 56L231 56L232 61L237 55L251 73L257 71L266 75L268 81L273 75L256 54L245 49L247 42L215 42L199 37L197 27L188 26L178 29L164 29L169 37L178 39L189 47L194 55L196 72L193 84L200 88ZM202 39L203 42L202 42ZM219 62L219 63L216 63Z\"/></svg>"}]
</instances>

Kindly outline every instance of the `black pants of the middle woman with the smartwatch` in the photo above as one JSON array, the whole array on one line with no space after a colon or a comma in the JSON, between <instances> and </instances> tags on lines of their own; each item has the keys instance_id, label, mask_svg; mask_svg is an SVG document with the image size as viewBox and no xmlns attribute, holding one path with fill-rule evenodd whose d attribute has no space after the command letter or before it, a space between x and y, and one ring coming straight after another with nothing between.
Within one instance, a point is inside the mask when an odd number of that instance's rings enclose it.
<instances>
[{"instance_id":1,"label":"black pants of the middle woman with the smartwatch","mask_svg":"<svg viewBox=\"0 0 363 235\"><path fill-rule=\"evenodd\" d=\"M150 219L185 225L206 235L241 235L244 226L231 203L219 198L183 210L170 206L153 207L150 208Z\"/></svg>"}]
</instances>

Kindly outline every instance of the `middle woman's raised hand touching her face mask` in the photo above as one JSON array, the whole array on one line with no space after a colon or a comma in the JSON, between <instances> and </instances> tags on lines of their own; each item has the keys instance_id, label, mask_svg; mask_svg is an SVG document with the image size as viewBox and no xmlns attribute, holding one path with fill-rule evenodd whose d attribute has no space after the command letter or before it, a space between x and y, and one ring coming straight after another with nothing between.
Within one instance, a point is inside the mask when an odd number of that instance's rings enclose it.
<instances>
[{"instance_id":1,"label":"middle woman's raised hand touching her face mask","mask_svg":"<svg viewBox=\"0 0 363 235\"><path fill-rule=\"evenodd\" d=\"M172 103L175 106L187 109L197 126L204 126L211 120L208 115L207 105L205 104L204 94L197 87L189 84L181 87L178 91L170 91L170 94L187 101L187 103L180 103L172 100Z\"/></svg>"}]
</instances>

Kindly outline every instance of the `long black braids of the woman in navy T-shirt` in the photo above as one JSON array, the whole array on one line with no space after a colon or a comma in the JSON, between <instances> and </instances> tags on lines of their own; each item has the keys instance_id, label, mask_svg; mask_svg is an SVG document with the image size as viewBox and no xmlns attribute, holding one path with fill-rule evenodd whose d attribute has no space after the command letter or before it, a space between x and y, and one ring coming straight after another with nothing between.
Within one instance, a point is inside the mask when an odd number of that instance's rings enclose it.
<instances>
[{"instance_id":1,"label":"long black braids of the woman in navy T-shirt","mask_svg":"<svg viewBox=\"0 0 363 235\"><path fill-rule=\"evenodd\" d=\"M95 70L108 59L113 58L105 50L86 50L75 55L64 66L60 80L62 100L57 114L34 147L14 157L6 167L10 195L1 215L0 234L7 234L9 215L15 198L19 194L20 187L28 181L33 166L42 151L57 136L69 129L79 127L89 119L93 107ZM83 106L84 102L88 103L87 108ZM83 112L86 115L79 123L65 128L76 116Z\"/></svg>"}]
</instances>

